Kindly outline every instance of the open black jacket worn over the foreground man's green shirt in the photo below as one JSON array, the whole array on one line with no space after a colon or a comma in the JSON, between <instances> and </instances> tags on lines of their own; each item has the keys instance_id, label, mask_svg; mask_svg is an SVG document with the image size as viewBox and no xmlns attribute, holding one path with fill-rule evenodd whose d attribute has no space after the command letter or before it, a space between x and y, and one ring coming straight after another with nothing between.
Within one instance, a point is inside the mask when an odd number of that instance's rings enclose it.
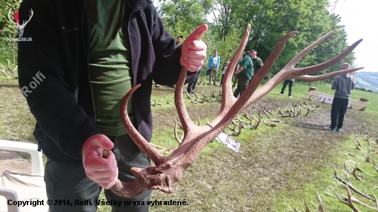
<instances>
[{"instance_id":1,"label":"open black jacket worn over the foreground man's green shirt","mask_svg":"<svg viewBox=\"0 0 378 212\"><path fill-rule=\"evenodd\" d=\"M19 19L28 20L19 42L19 86L36 118L34 137L45 155L59 163L82 160L86 139L99 131L89 81L90 29L85 0L24 0ZM164 30L149 0L129 0L125 24L131 43L137 129L152 137L151 87L175 84L181 48ZM191 80L189 73L187 82ZM126 91L125 91L126 93Z\"/></svg>"}]
</instances>

